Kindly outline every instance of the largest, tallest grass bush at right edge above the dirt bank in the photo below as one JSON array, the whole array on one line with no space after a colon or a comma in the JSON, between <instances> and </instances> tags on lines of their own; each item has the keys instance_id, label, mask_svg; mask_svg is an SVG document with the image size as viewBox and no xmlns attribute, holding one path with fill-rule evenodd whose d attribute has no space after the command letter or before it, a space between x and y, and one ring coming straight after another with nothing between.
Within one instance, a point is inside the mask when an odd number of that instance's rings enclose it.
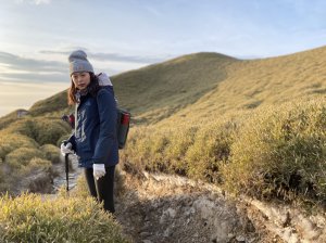
<instances>
[{"instance_id":1,"label":"largest, tallest grass bush at right edge above the dirt bank","mask_svg":"<svg viewBox=\"0 0 326 243\"><path fill-rule=\"evenodd\" d=\"M260 199L326 199L326 103L262 110L239 130L223 168L228 190Z\"/></svg>"}]
</instances>

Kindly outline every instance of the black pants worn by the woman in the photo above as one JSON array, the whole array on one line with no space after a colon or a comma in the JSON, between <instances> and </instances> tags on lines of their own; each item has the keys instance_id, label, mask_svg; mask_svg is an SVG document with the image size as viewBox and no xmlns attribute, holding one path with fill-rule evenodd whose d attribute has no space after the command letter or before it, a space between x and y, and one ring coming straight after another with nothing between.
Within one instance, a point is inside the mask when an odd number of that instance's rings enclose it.
<instances>
[{"instance_id":1,"label":"black pants worn by the woman","mask_svg":"<svg viewBox=\"0 0 326 243\"><path fill-rule=\"evenodd\" d=\"M105 167L105 176L96 180L92 175L92 168L85 168L85 178L88 184L90 194L100 203L104 202L104 209L114 213L114 170L115 166Z\"/></svg>"}]
</instances>

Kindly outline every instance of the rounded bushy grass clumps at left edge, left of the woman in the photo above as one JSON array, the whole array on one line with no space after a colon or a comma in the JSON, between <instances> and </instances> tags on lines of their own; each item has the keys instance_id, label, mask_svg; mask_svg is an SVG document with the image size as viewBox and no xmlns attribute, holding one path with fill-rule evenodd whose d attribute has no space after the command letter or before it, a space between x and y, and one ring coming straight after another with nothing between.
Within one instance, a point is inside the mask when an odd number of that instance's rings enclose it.
<instances>
[{"instance_id":1,"label":"rounded bushy grass clumps at left edge, left of the woman","mask_svg":"<svg viewBox=\"0 0 326 243\"><path fill-rule=\"evenodd\" d=\"M37 192L43 191L46 184L49 190L52 164L60 163L59 148L39 146L34 139L8 130L1 130L0 135L0 192L17 188Z\"/></svg>"}]
</instances>

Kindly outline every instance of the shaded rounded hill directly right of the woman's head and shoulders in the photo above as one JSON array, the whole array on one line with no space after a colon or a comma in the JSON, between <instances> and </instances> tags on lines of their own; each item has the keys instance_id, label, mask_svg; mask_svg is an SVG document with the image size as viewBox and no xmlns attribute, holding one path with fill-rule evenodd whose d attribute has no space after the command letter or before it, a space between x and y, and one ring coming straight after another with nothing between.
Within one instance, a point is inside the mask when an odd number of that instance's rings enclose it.
<instances>
[{"instance_id":1,"label":"shaded rounded hill directly right of the woman's head and shoulders","mask_svg":"<svg viewBox=\"0 0 326 243\"><path fill-rule=\"evenodd\" d=\"M158 122L198 101L227 78L239 62L217 53L184 55L112 77L122 106L145 120Z\"/></svg>"}]
</instances>

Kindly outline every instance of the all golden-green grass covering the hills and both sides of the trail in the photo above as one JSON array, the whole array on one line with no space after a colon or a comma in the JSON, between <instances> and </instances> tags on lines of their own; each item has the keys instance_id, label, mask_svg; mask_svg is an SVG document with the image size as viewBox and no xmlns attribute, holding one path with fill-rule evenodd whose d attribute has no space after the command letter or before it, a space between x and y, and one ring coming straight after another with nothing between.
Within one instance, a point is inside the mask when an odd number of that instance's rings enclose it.
<instances>
[{"instance_id":1,"label":"all golden-green grass covering the hills and both sides of the trail","mask_svg":"<svg viewBox=\"0 0 326 243\"><path fill-rule=\"evenodd\" d=\"M325 64L326 48L252 61L197 53L112 77L120 105L133 114L122 167L325 212ZM23 118L0 118L0 192L50 184L55 145L71 132L60 118L73 110L62 91ZM47 176L25 180L36 172ZM7 195L0 206L2 241L127 241L91 200Z\"/></svg>"}]
</instances>

